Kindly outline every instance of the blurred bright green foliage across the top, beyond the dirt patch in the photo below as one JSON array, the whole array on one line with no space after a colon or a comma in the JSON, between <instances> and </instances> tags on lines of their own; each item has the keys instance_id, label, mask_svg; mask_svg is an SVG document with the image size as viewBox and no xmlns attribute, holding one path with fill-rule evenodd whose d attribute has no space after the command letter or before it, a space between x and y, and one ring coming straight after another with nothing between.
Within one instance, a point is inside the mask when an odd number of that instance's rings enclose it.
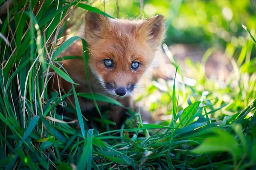
<instances>
[{"instance_id":1,"label":"blurred bright green foliage across the top, beyond the dirt patch","mask_svg":"<svg viewBox=\"0 0 256 170\"><path fill-rule=\"evenodd\" d=\"M104 0L93 6L104 10ZM254 1L249 0L144 0L143 16L163 14L166 18L166 44L197 44L202 49L235 48L245 45L247 32L241 23L253 30L256 24ZM117 17L116 0L105 0L105 11ZM119 0L120 18L140 15L140 0ZM253 32L253 31L251 31Z\"/></svg>"}]
</instances>

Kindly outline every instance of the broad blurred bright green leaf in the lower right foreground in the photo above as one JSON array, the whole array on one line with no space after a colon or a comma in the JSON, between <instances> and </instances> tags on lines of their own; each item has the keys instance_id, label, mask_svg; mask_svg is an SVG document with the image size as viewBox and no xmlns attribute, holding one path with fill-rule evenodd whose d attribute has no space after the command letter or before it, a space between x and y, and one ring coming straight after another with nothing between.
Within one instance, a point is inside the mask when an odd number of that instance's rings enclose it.
<instances>
[{"instance_id":1,"label":"broad blurred bright green leaf in the lower right foreground","mask_svg":"<svg viewBox=\"0 0 256 170\"><path fill-rule=\"evenodd\" d=\"M209 137L203 144L193 150L195 153L229 152L233 159L239 158L241 148L236 139L227 132L216 129L218 136Z\"/></svg>"}]
</instances>

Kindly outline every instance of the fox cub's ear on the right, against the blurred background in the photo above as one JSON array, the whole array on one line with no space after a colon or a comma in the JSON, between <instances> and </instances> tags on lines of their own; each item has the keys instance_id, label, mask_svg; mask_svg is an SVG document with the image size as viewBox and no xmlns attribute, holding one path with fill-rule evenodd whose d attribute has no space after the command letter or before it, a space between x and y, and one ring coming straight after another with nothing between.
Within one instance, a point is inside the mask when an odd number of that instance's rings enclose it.
<instances>
[{"instance_id":1,"label":"fox cub's ear on the right, against the blurred background","mask_svg":"<svg viewBox=\"0 0 256 170\"><path fill-rule=\"evenodd\" d=\"M147 20L144 20L141 25L140 34L144 34L146 42L153 50L157 50L161 45L165 35L165 20L163 15L156 15Z\"/></svg>"}]
</instances>

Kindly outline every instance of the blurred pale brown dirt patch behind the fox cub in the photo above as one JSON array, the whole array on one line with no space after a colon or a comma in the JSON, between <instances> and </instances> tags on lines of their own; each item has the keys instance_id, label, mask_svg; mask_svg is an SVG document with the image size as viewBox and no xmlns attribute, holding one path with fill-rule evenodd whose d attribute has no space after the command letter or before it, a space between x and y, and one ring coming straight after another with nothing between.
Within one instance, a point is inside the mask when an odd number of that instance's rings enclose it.
<instances>
[{"instance_id":1,"label":"blurred pale brown dirt patch behind the fox cub","mask_svg":"<svg viewBox=\"0 0 256 170\"><path fill-rule=\"evenodd\" d=\"M185 60L191 59L197 67L197 63L202 62L205 51L196 45L184 44L171 45L169 51L179 63L183 75L185 77L195 78L195 71L192 71L191 67L188 67ZM175 67L163 52L157 54L153 67L157 68L157 71L154 71L155 78L169 79L173 78L175 74ZM212 79L227 79L233 70L230 59L225 55L224 51L213 52L207 59L204 69L206 77ZM198 71L201 70L198 68Z\"/></svg>"}]
</instances>

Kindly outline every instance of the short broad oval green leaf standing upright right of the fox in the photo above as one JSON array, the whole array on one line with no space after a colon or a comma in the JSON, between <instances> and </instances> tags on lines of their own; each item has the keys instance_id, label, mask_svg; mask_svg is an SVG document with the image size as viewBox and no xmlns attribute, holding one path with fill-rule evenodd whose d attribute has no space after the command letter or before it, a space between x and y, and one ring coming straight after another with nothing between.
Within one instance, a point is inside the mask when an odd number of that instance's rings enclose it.
<instances>
[{"instance_id":1,"label":"short broad oval green leaf standing upright right of the fox","mask_svg":"<svg viewBox=\"0 0 256 170\"><path fill-rule=\"evenodd\" d=\"M186 126L193 122L192 118L198 110L199 105L200 102L195 102L184 109L179 117L181 125Z\"/></svg>"}]
</instances>

